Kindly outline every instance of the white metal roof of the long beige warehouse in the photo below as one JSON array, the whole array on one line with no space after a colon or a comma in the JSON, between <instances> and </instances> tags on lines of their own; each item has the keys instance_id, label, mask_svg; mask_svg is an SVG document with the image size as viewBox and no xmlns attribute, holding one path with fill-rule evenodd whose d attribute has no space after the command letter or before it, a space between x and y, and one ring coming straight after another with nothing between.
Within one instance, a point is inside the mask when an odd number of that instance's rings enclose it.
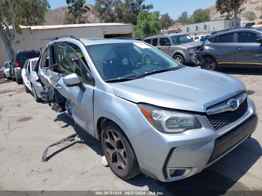
<instances>
[{"instance_id":1,"label":"white metal roof of the long beige warehouse","mask_svg":"<svg viewBox=\"0 0 262 196\"><path fill-rule=\"evenodd\" d=\"M120 25L131 25L131 24L88 23L88 24L62 24L62 25L44 25L44 26L22 26L20 25L20 28L30 28L31 30L36 30L36 29L51 29L51 28L97 27L97 26L120 26Z\"/></svg>"}]
</instances>

